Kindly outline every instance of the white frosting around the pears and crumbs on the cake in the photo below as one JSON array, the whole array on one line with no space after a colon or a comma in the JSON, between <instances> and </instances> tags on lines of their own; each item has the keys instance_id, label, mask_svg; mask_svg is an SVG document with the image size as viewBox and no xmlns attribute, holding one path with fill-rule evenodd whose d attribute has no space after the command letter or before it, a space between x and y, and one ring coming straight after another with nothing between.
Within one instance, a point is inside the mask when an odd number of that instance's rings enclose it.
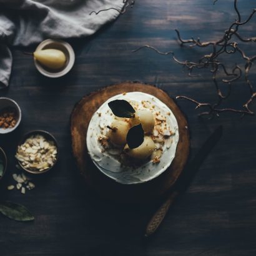
<instances>
[{"instance_id":1,"label":"white frosting around the pears and crumbs on the cake","mask_svg":"<svg viewBox=\"0 0 256 256\"><path fill-rule=\"evenodd\" d=\"M164 148L159 164L153 164L153 162L149 160L134 169L121 165L121 162L107 150L102 152L102 146L99 143L98 137L102 134L101 132L107 133L106 126L110 125L114 120L114 115L111 116L111 110L107 103L115 99L126 99L127 101L133 102L150 101L154 104L155 111L160 111L167 117L167 125L175 134L171 136L172 144L170 147ZM101 113L100 117L99 113ZM143 92L128 92L126 95L119 94L111 97L94 113L87 130L87 149L92 161L103 174L121 184L139 184L152 180L162 174L175 157L178 141L179 127L172 111L156 97Z\"/></svg>"}]
</instances>

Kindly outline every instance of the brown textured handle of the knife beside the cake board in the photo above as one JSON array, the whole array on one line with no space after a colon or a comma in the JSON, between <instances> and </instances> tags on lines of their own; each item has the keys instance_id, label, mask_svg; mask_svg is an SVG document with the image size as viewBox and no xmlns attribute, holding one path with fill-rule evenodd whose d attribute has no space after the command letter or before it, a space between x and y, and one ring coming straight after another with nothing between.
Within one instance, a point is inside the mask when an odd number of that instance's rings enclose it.
<instances>
[{"instance_id":1,"label":"brown textured handle of the knife beside the cake board","mask_svg":"<svg viewBox=\"0 0 256 256\"><path fill-rule=\"evenodd\" d=\"M145 229L145 237L149 237L150 235L154 234L155 230L158 229L159 225L161 224L162 220L167 214L170 205L172 205L177 195L178 192L172 192L172 194L169 195L169 198L165 200L164 204L162 204L157 210L157 212L155 212L155 214L147 224L147 227Z\"/></svg>"}]
</instances>

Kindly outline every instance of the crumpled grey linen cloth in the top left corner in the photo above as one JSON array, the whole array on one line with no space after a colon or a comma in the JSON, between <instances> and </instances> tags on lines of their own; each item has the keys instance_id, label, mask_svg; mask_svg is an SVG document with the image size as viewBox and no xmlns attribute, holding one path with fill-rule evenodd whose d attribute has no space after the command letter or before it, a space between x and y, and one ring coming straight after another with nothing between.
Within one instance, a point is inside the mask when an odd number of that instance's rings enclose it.
<instances>
[{"instance_id":1,"label":"crumpled grey linen cloth in the top left corner","mask_svg":"<svg viewBox=\"0 0 256 256\"><path fill-rule=\"evenodd\" d=\"M123 0L0 0L0 86L8 86L12 55L9 46L29 46L47 38L94 34L119 12Z\"/></svg>"}]
</instances>

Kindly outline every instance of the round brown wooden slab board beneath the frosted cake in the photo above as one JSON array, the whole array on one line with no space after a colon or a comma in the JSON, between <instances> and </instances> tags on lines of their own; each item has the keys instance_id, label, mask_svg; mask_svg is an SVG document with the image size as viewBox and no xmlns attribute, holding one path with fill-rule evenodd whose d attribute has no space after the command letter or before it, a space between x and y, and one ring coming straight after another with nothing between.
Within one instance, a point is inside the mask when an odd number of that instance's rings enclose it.
<instances>
[{"instance_id":1,"label":"round brown wooden slab board beneath the frosted cake","mask_svg":"<svg viewBox=\"0 0 256 256\"><path fill-rule=\"evenodd\" d=\"M179 126L179 142L172 164L159 177L142 184L123 185L102 174L93 164L87 154L86 134L92 115L107 99L123 92L135 91L157 97L172 110ZM84 96L76 104L71 114L71 137L77 167L86 180L86 184L103 197L121 202L152 200L164 194L174 185L175 180L184 169L189 155L189 130L187 121L179 107L161 89L139 82L122 82Z\"/></svg>"}]
</instances>

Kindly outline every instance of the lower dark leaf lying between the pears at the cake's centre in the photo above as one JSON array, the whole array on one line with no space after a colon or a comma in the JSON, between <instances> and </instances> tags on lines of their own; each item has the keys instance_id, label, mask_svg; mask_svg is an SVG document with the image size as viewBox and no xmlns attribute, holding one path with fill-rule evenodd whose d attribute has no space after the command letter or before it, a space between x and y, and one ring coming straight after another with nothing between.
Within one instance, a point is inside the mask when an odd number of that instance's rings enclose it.
<instances>
[{"instance_id":1,"label":"lower dark leaf lying between the pears at the cake's centre","mask_svg":"<svg viewBox=\"0 0 256 256\"><path fill-rule=\"evenodd\" d=\"M126 136L126 142L130 149L135 149L144 142L144 130L141 124L130 128Z\"/></svg>"}]
</instances>

